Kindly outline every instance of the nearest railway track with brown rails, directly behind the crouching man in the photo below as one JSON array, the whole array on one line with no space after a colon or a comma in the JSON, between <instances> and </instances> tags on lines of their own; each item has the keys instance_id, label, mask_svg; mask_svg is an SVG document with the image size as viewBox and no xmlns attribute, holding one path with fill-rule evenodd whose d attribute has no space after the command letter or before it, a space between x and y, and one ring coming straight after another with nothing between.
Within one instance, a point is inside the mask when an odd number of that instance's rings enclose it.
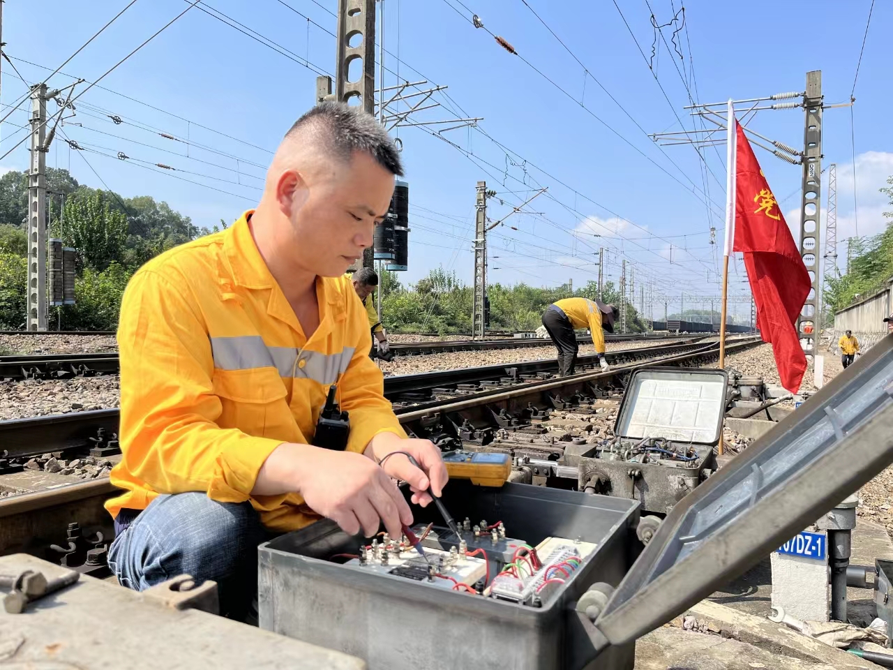
<instances>
[{"instance_id":1,"label":"nearest railway track with brown rails, directly behind the crouching man","mask_svg":"<svg viewBox=\"0 0 893 670\"><path fill-rule=\"evenodd\" d=\"M727 343L727 353L753 347L760 341L759 338L731 339ZM396 412L407 432L434 440L442 448L498 446L504 435L522 435L524 441L534 442L541 440L540 433L546 432L537 425L550 413L595 414L598 403L619 398L627 375L642 364L692 367L715 361L719 356L715 342L692 342L685 347L670 345L659 349L647 360L615 360L608 372L590 368L563 378L543 374L507 387L482 386L469 394L446 394L416 405L398 406ZM532 362L537 365L547 363ZM554 361L550 363L555 364ZM405 380L401 383L405 384ZM34 454L64 452L64 456L71 457L86 453L88 448L108 447L117 425L116 409L0 422L0 444L5 450L5 453L0 452L0 468L17 458ZM563 449L571 444L547 441L545 448L529 445L524 453L534 456L530 463L537 475L540 472L543 476L566 475L559 472L566 466L556 461ZM511 448L508 450L512 451ZM541 460L536 457L538 455ZM0 477L2 488L3 477ZM73 479L70 485L0 498L0 555L13 550L33 553L38 547L45 548L46 542L58 540L65 524L74 519L84 528L111 532L111 518L104 512L102 504L114 491L108 478L101 477L86 482Z\"/></svg>"}]
</instances>

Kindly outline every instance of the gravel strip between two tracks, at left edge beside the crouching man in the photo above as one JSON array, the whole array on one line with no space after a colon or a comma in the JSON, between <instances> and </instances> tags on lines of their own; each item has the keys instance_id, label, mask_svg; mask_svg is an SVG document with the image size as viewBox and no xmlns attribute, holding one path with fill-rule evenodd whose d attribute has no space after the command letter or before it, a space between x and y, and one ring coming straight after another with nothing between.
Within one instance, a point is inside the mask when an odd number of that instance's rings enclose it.
<instances>
[{"instance_id":1,"label":"gravel strip between two tracks, at left edge beside the crouching man","mask_svg":"<svg viewBox=\"0 0 893 670\"><path fill-rule=\"evenodd\" d=\"M118 375L71 380L0 381L0 420L117 407Z\"/></svg>"}]
</instances>

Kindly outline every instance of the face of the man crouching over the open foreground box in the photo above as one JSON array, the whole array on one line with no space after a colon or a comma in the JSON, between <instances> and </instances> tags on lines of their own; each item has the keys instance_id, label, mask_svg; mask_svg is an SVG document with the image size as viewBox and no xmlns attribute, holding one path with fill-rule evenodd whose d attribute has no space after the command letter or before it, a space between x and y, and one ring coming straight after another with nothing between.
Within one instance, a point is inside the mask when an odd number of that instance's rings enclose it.
<instances>
[{"instance_id":1,"label":"face of the man crouching over the open foreground box","mask_svg":"<svg viewBox=\"0 0 893 670\"><path fill-rule=\"evenodd\" d=\"M361 152L302 181L289 216L296 260L322 277L346 272L371 247L372 229L388 213L393 193L394 175Z\"/></svg>"}]
</instances>

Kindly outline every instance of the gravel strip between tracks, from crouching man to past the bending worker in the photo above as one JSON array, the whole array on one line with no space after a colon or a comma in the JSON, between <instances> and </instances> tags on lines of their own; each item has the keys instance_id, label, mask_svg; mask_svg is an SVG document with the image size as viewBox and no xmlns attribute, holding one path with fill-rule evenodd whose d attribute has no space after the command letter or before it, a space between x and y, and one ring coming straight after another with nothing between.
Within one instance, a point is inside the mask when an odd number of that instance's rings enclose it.
<instances>
[{"instance_id":1,"label":"gravel strip between tracks, from crouching man to past the bending worker","mask_svg":"<svg viewBox=\"0 0 893 670\"><path fill-rule=\"evenodd\" d=\"M670 340L675 341L675 340ZM663 343L663 340L661 340ZM608 342L608 351L617 349L638 349L654 347L654 342ZM580 355L594 354L591 345L580 346ZM445 354L428 354L423 356L396 356L390 363L378 361L381 372L386 377L392 374L430 373L434 370L456 370L477 365L497 365L538 361L543 358L555 358L555 347L528 347L521 349L491 349L489 351L451 351Z\"/></svg>"}]
</instances>

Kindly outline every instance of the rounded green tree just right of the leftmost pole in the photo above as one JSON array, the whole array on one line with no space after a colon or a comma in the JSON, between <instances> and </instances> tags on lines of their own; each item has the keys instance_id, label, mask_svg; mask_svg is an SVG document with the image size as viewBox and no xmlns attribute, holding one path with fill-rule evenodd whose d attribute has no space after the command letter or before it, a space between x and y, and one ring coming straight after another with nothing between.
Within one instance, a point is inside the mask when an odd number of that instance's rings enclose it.
<instances>
[{"instance_id":1,"label":"rounded green tree just right of the leftmost pole","mask_svg":"<svg viewBox=\"0 0 893 670\"><path fill-rule=\"evenodd\" d=\"M66 200L63 217L54 222L54 234L78 249L84 267L103 271L121 263L127 218L109 205L103 191L77 192Z\"/></svg>"}]
</instances>

